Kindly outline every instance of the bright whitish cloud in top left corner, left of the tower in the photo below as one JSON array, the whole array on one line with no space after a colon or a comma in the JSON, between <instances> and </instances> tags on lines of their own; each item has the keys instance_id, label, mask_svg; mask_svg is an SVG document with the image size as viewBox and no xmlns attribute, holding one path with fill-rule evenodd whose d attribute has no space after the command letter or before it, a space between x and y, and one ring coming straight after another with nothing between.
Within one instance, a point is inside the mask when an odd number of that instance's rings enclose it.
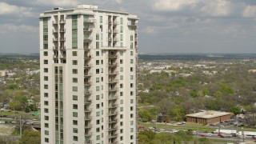
<instances>
[{"instance_id":1,"label":"bright whitish cloud in top left corner, left of the tower","mask_svg":"<svg viewBox=\"0 0 256 144\"><path fill-rule=\"evenodd\" d=\"M0 15L5 14L18 14L19 16L31 16L31 8L10 5L6 2L0 2Z\"/></svg>"}]
</instances>

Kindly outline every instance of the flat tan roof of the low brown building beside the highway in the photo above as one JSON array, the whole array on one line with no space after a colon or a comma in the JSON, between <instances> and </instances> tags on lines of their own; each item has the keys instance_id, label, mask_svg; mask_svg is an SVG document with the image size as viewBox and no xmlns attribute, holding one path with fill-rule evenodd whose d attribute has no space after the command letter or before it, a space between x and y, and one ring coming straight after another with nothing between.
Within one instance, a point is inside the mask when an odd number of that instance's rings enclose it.
<instances>
[{"instance_id":1,"label":"flat tan roof of the low brown building beside the highway","mask_svg":"<svg viewBox=\"0 0 256 144\"><path fill-rule=\"evenodd\" d=\"M195 118L216 118L228 114L233 114L233 113L227 113L227 112L222 112L222 111L214 111L214 110L207 110L195 114L186 114L187 117L195 117Z\"/></svg>"}]
</instances>

